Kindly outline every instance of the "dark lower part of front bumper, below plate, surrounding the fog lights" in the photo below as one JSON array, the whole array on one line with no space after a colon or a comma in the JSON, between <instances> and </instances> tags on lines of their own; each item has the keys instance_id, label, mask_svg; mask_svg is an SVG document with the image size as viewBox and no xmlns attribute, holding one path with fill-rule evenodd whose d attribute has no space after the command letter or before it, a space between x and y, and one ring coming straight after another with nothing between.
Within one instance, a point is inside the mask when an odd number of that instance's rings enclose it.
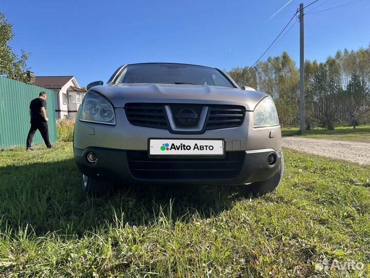
<instances>
[{"instance_id":1,"label":"dark lower part of front bumper, below plate, surrounding the fog lights","mask_svg":"<svg viewBox=\"0 0 370 278\"><path fill-rule=\"evenodd\" d=\"M260 149L227 152L227 157L224 160L201 159L197 161L193 159L193 161L187 161L187 159L183 159L179 161L170 158L165 160L150 159L147 158L147 153L145 157L143 151L112 148L87 147L79 149L75 147L74 151L77 167L85 176L128 184L240 185L257 182L267 180L275 174L280 167L282 156L281 151ZM94 152L97 155L98 161L95 164L86 160L89 152ZM141 160L132 158L132 154L136 154L136 152L141 152L137 156ZM276 155L276 163L273 166L267 164L267 157L271 153ZM164 167L163 163L165 163ZM181 169L177 167L182 167L181 163L192 165L193 168ZM137 167L133 165L141 165L141 168L136 169ZM146 172L146 166L143 165L148 165ZM227 175L224 175L222 171L227 172Z\"/></svg>"}]
</instances>

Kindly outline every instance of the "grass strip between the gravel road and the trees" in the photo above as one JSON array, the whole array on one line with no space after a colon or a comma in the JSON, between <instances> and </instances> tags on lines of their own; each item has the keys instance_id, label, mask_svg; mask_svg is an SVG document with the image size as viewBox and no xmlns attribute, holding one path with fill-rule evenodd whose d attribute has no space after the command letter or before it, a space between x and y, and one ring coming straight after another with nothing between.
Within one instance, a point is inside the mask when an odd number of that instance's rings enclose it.
<instances>
[{"instance_id":1,"label":"grass strip between the gravel road and the trees","mask_svg":"<svg viewBox=\"0 0 370 278\"><path fill-rule=\"evenodd\" d=\"M303 134L300 134L299 127L292 127L290 129L283 128L282 135L370 143L370 126L358 126L356 129L339 126L334 130L315 128L305 131Z\"/></svg>"}]
</instances>

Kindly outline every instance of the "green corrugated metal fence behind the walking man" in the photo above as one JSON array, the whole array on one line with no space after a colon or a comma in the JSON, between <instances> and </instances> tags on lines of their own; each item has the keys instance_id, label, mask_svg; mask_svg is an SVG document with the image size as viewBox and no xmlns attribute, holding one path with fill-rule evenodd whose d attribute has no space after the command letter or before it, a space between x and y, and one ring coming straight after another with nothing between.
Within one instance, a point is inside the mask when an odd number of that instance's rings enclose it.
<instances>
[{"instance_id":1,"label":"green corrugated metal fence behind the walking man","mask_svg":"<svg viewBox=\"0 0 370 278\"><path fill-rule=\"evenodd\" d=\"M26 148L30 128L29 103L44 91L48 97L46 114L49 118L50 142L57 142L54 92L0 76L0 149L23 146ZM33 137L33 145L44 144L40 132Z\"/></svg>"}]
</instances>

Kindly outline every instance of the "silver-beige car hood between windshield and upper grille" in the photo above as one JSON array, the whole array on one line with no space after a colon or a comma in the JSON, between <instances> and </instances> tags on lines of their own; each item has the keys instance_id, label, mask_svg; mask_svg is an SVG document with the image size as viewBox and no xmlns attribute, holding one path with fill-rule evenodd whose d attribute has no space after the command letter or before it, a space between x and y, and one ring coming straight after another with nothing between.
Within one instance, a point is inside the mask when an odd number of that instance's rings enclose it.
<instances>
[{"instance_id":1,"label":"silver-beige car hood between windshield and upper grille","mask_svg":"<svg viewBox=\"0 0 370 278\"><path fill-rule=\"evenodd\" d=\"M240 105L253 111L266 93L207 85L188 84L116 84L90 89L109 99L115 108L129 102L199 103Z\"/></svg>"}]
</instances>

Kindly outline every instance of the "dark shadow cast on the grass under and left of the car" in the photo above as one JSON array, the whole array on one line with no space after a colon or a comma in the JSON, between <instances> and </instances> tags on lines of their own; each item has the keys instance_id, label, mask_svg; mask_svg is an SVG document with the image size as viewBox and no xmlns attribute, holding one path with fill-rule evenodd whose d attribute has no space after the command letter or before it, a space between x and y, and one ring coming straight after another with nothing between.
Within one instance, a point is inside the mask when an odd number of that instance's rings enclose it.
<instances>
[{"instance_id":1,"label":"dark shadow cast on the grass under and left of the car","mask_svg":"<svg viewBox=\"0 0 370 278\"><path fill-rule=\"evenodd\" d=\"M0 168L0 230L25 229L36 235L83 235L117 220L151 225L160 217L187 222L209 218L240 197L236 187L128 186L109 198L88 197L72 159ZM3 230L4 231L4 230Z\"/></svg>"}]
</instances>

